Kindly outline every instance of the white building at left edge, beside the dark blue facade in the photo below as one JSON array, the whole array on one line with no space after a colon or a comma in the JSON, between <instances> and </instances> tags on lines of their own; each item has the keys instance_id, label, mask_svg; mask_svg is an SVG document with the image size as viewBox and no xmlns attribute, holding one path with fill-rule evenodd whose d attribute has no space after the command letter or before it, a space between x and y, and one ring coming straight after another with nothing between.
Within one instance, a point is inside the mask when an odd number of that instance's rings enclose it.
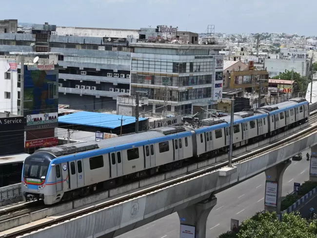
<instances>
[{"instance_id":1,"label":"white building at left edge, beside the dark blue facade","mask_svg":"<svg viewBox=\"0 0 317 238\"><path fill-rule=\"evenodd\" d=\"M15 58L0 58L0 112L20 115L17 70Z\"/></svg>"}]
</instances>

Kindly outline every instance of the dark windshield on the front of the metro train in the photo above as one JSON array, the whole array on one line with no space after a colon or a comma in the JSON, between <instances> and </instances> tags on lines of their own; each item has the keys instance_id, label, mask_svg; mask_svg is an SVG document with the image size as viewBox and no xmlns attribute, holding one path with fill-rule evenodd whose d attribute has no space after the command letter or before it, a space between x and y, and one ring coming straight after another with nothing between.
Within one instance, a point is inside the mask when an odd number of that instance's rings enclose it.
<instances>
[{"instance_id":1,"label":"dark windshield on the front of the metro train","mask_svg":"<svg viewBox=\"0 0 317 238\"><path fill-rule=\"evenodd\" d=\"M30 179L45 179L49 163L45 159L32 158L24 162L24 177Z\"/></svg>"}]
</instances>

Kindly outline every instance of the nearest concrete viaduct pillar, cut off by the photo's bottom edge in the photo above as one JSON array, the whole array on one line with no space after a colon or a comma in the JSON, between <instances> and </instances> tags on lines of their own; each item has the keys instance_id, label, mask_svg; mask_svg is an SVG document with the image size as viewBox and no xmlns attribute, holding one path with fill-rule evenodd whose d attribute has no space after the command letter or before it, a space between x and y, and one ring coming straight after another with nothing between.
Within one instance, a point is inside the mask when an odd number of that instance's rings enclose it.
<instances>
[{"instance_id":1,"label":"nearest concrete viaduct pillar, cut off by the photo's bottom edge","mask_svg":"<svg viewBox=\"0 0 317 238\"><path fill-rule=\"evenodd\" d=\"M194 226L196 234L195 238L206 238L207 218L211 209L213 209L216 204L217 198L212 196L207 200L178 211L180 225ZM183 237L182 235L184 234L180 233L180 238Z\"/></svg>"}]
</instances>

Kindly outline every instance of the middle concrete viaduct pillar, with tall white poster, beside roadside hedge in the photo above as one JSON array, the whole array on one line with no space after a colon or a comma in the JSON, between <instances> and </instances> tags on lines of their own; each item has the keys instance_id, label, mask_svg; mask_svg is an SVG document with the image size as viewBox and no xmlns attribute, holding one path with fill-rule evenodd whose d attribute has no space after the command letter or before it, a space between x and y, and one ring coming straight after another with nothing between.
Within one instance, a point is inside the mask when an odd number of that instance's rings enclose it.
<instances>
[{"instance_id":1,"label":"middle concrete viaduct pillar, with tall white poster, beside roadside hedge","mask_svg":"<svg viewBox=\"0 0 317 238\"><path fill-rule=\"evenodd\" d=\"M266 187L270 184L266 183L265 186L265 194L264 194L264 209L268 210L269 212L276 212L277 214L280 213L281 210L281 197L282 197L282 182L283 182L283 174L286 170L286 168L291 164L292 162L290 160L287 160L286 162L277 164L273 166L272 168L265 171L266 181L271 182L277 182L277 197L276 197L276 205L265 205L265 201L269 201L267 198L273 198L274 197L274 191L271 190L271 194L268 193L266 196ZM272 196L273 195L273 196Z\"/></svg>"}]
</instances>

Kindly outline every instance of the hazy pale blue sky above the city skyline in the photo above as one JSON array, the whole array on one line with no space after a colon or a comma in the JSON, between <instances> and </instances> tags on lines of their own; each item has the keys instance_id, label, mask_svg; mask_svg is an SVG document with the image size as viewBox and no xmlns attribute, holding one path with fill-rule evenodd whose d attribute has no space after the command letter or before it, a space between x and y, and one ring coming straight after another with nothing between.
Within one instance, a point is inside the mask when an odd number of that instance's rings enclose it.
<instances>
[{"instance_id":1,"label":"hazy pale blue sky above the city skyline","mask_svg":"<svg viewBox=\"0 0 317 238\"><path fill-rule=\"evenodd\" d=\"M0 19L58 26L317 35L316 0L0 0Z\"/></svg>"}]
</instances>

